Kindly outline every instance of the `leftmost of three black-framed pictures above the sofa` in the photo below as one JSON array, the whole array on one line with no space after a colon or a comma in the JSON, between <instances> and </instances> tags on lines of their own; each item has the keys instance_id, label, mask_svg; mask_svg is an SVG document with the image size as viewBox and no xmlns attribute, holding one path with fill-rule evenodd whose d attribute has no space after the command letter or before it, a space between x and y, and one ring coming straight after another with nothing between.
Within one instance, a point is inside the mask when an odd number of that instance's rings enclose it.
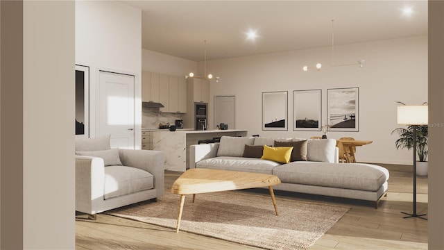
<instances>
[{"instance_id":1,"label":"leftmost of three black-framed pictures above the sofa","mask_svg":"<svg viewBox=\"0 0 444 250\"><path fill-rule=\"evenodd\" d=\"M288 130L288 92L262 92L262 130Z\"/></svg>"}]
</instances>

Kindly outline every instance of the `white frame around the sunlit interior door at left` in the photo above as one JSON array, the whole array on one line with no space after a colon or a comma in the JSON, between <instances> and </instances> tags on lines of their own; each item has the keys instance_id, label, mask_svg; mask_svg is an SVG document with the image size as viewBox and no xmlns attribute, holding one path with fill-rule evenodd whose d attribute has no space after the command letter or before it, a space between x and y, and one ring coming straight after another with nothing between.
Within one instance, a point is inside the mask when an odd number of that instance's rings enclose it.
<instances>
[{"instance_id":1,"label":"white frame around the sunlit interior door at left","mask_svg":"<svg viewBox=\"0 0 444 250\"><path fill-rule=\"evenodd\" d=\"M94 73L96 74L94 93L89 92L90 98L95 98L95 100L89 99L89 107L91 108L91 110L94 110L94 119L90 115L90 120L94 120L94 128L92 128L91 126L89 127L90 135L92 131L94 131L94 136L100 135L99 126L96 126L96 124L99 124L99 89L101 71L134 76L134 149L142 149L142 83L140 81L140 74L137 74L136 72L129 72L121 69L110 69L105 67L96 67L96 69L94 69ZM92 87L90 86L89 88Z\"/></svg>"}]
</instances>

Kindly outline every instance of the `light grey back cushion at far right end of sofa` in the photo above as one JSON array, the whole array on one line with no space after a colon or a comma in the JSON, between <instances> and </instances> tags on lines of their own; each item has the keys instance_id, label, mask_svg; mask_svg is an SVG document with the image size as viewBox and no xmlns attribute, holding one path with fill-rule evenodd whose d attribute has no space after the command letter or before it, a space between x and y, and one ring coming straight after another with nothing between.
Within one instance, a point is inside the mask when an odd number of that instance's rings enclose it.
<instances>
[{"instance_id":1,"label":"light grey back cushion at far right end of sofa","mask_svg":"<svg viewBox=\"0 0 444 250\"><path fill-rule=\"evenodd\" d=\"M307 160L334 163L334 139L310 139L307 144Z\"/></svg>"}]
</instances>

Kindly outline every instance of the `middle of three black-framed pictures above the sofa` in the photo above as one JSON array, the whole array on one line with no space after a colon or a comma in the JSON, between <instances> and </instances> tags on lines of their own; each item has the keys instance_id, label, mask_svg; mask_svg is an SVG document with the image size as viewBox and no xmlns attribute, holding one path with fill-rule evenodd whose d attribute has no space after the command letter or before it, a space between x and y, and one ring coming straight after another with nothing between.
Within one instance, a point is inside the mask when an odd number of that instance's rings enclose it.
<instances>
[{"instance_id":1,"label":"middle of three black-framed pictures above the sofa","mask_svg":"<svg viewBox=\"0 0 444 250\"><path fill-rule=\"evenodd\" d=\"M293 91L293 131L321 131L322 90Z\"/></svg>"}]
</instances>

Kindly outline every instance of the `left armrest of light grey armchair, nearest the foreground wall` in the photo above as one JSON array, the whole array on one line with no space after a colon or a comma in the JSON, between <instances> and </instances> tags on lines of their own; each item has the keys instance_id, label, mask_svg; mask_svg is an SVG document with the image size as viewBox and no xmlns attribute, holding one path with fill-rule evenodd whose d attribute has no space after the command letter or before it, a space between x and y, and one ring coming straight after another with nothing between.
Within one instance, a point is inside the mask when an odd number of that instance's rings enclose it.
<instances>
[{"instance_id":1,"label":"left armrest of light grey armchair, nearest the foreground wall","mask_svg":"<svg viewBox=\"0 0 444 250\"><path fill-rule=\"evenodd\" d=\"M103 201L105 169L103 159L76 156L76 210L95 213L96 203Z\"/></svg>"}]
</instances>

